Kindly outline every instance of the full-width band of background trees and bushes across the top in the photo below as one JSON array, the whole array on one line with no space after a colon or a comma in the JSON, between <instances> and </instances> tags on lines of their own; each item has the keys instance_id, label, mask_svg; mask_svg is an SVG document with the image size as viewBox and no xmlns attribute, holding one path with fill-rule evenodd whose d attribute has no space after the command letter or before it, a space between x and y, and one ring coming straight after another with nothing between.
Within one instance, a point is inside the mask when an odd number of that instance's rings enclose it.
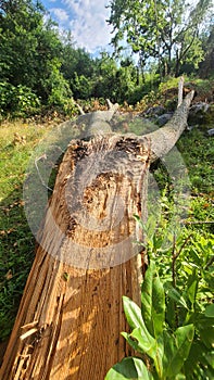
<instances>
[{"instance_id":1,"label":"full-width band of background trees and bushes across the top","mask_svg":"<svg viewBox=\"0 0 214 380\"><path fill-rule=\"evenodd\" d=\"M1 1L0 119L50 110L70 117L75 112L73 99L136 104L167 75L212 74L210 0L199 1L188 12L180 0L149 1L143 7L140 1L130 7L119 0L110 7L109 22L116 30L112 42L115 53L119 51L116 60L106 52L93 59L76 48L71 31L60 34L38 1ZM128 56L119 46L124 34L133 49Z\"/></svg>"}]
</instances>

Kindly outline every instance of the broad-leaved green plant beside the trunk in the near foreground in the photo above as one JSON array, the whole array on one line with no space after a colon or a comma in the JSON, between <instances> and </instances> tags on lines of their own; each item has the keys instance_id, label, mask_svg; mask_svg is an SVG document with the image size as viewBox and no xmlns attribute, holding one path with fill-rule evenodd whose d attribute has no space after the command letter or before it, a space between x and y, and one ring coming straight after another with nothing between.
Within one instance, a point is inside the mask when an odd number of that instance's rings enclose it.
<instances>
[{"instance_id":1,"label":"broad-leaved green plant beside the trunk in the near foreground","mask_svg":"<svg viewBox=\"0 0 214 380\"><path fill-rule=\"evenodd\" d=\"M194 335L193 324L172 330L165 320L165 291L154 261L141 289L141 308L124 296L124 312L131 332L123 337L139 356L128 357L108 372L112 379L181 379ZM182 377L184 378L184 377Z\"/></svg>"}]
</instances>

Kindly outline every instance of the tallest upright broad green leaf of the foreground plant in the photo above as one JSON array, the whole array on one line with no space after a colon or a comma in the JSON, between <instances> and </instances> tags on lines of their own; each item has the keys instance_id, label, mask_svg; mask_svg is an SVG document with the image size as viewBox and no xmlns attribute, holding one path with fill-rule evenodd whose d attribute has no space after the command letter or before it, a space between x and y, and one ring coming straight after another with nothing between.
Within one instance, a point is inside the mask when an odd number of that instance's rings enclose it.
<instances>
[{"instance_id":1,"label":"tallest upright broad green leaf of the foreground plant","mask_svg":"<svg viewBox=\"0 0 214 380\"><path fill-rule=\"evenodd\" d=\"M142 283L141 308L142 318L150 334L158 338L163 332L165 320L165 294L153 261L147 269Z\"/></svg>"}]
</instances>

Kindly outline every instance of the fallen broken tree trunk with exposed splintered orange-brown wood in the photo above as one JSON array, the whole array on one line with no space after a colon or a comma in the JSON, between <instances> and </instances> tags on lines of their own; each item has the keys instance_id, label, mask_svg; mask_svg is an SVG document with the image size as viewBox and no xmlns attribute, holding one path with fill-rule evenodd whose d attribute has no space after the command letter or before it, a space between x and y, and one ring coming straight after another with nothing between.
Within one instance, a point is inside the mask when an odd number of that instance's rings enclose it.
<instances>
[{"instance_id":1,"label":"fallen broken tree trunk with exposed splintered orange-brown wood","mask_svg":"<svg viewBox=\"0 0 214 380\"><path fill-rule=\"evenodd\" d=\"M175 144L192 96L169 126L143 137L111 134L112 110L86 115L93 138L72 141L60 166L1 379L101 380L130 354L119 332L122 295L140 303L134 215L147 218L149 165Z\"/></svg>"}]
</instances>

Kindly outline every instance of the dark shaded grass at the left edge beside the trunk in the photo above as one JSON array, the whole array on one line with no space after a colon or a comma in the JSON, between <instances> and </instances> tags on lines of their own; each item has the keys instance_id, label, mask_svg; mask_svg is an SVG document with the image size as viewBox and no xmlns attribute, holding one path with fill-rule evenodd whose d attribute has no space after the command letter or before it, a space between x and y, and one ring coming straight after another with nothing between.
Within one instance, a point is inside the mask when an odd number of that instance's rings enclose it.
<instances>
[{"instance_id":1,"label":"dark shaded grass at the left edge beside the trunk","mask_svg":"<svg viewBox=\"0 0 214 380\"><path fill-rule=\"evenodd\" d=\"M35 252L22 186L0 203L0 362L13 328Z\"/></svg>"}]
</instances>

